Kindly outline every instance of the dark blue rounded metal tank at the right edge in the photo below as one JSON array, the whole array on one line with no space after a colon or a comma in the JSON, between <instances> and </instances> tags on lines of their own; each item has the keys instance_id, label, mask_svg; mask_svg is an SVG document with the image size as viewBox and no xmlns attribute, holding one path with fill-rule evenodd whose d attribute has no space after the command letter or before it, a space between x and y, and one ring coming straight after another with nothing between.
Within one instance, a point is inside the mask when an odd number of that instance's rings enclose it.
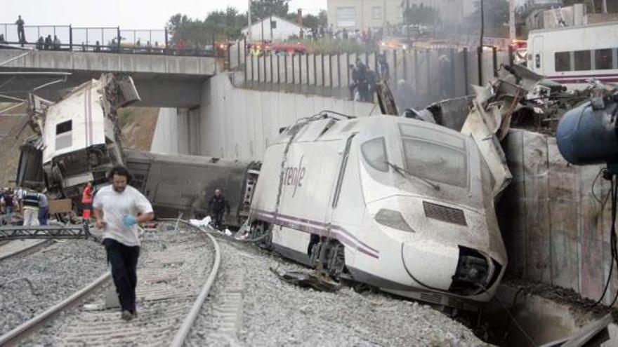
<instances>
[{"instance_id":1,"label":"dark blue rounded metal tank at the right edge","mask_svg":"<svg viewBox=\"0 0 618 347\"><path fill-rule=\"evenodd\" d=\"M617 107L610 102L604 109L593 109L585 102L568 111L555 135L560 154L574 165L618 163Z\"/></svg>"}]
</instances>

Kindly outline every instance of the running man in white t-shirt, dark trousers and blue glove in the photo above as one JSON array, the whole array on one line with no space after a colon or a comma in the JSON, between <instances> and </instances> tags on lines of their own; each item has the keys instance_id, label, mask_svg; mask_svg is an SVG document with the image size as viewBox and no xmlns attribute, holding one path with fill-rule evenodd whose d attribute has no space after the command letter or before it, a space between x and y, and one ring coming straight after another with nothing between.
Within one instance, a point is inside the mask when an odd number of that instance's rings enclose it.
<instances>
[{"instance_id":1,"label":"running man in white t-shirt, dark trousers and blue glove","mask_svg":"<svg viewBox=\"0 0 618 347\"><path fill-rule=\"evenodd\" d=\"M138 223L152 220L155 213L142 193L129 186L131 172L117 165L107 175L112 183L98 191L93 201L96 227L103 229L107 261L121 306L121 318L136 317L137 264L140 256Z\"/></svg>"}]
</instances>

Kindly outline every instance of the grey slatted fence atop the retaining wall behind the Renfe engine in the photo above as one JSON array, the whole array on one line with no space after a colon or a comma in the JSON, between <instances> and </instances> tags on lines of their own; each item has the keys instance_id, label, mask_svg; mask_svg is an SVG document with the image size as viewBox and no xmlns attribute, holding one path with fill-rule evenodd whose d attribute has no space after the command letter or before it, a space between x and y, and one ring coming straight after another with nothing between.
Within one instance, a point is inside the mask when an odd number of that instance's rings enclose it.
<instances>
[{"instance_id":1,"label":"grey slatted fence atop the retaining wall behind the Renfe engine","mask_svg":"<svg viewBox=\"0 0 618 347\"><path fill-rule=\"evenodd\" d=\"M380 71L381 53L337 55L251 55L242 43L230 46L228 66L242 74L237 87L280 90L351 99L355 97L350 64L363 62ZM438 100L471 95L471 85L483 85L497 76L502 64L512 64L511 50L495 47L384 50L388 85L400 109Z\"/></svg>"}]
</instances>

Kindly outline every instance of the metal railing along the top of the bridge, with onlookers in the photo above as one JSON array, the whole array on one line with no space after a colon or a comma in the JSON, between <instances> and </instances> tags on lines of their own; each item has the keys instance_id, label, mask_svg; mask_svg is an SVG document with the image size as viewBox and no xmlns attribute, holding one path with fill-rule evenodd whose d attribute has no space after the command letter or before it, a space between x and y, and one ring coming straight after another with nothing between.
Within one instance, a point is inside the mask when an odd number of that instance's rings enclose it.
<instances>
[{"instance_id":1,"label":"metal railing along the top of the bridge, with onlookers","mask_svg":"<svg viewBox=\"0 0 618 347\"><path fill-rule=\"evenodd\" d=\"M171 45L167 29L121 29L120 27L73 27L72 25L25 25L24 42L18 26L0 23L0 43L38 50L69 50L96 53L213 56L216 45L203 49ZM51 44L46 44L49 38ZM58 40L54 43L54 39ZM39 40L42 39L42 42Z\"/></svg>"}]
</instances>

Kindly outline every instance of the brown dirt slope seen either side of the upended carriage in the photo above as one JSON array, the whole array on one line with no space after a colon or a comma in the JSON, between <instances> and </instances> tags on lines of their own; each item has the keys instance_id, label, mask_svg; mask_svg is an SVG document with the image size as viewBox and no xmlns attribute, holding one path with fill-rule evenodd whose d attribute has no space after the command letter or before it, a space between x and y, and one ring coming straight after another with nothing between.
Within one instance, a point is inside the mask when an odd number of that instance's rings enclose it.
<instances>
[{"instance_id":1,"label":"brown dirt slope seen either side of the upended carriage","mask_svg":"<svg viewBox=\"0 0 618 347\"><path fill-rule=\"evenodd\" d=\"M11 104L0 103L0 110ZM25 107L6 112L12 116L0 116L0 186L15 186L19 165L19 147L24 140L34 135L27 125ZM157 107L125 107L118 112L122 128L124 148L150 151L155 135L159 109Z\"/></svg>"}]
</instances>

